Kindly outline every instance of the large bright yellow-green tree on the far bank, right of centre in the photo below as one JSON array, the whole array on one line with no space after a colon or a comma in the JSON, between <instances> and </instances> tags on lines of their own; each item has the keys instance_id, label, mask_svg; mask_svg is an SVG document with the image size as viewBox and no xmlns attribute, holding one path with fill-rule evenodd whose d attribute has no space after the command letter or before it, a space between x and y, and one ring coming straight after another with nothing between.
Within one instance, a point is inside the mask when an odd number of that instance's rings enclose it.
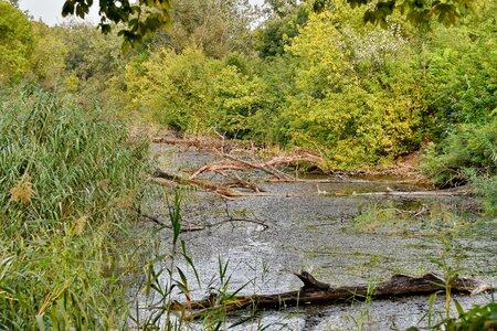
<instances>
[{"instance_id":1,"label":"large bright yellow-green tree on the far bank, right of centre","mask_svg":"<svg viewBox=\"0 0 497 331\"><path fill-rule=\"evenodd\" d=\"M403 42L392 32L383 45L377 39L377 49L361 51L370 35L338 30L331 19L313 15L287 47L298 57L298 94L284 113L292 141L340 169L406 152L416 143L422 105L413 67L396 56Z\"/></svg>"}]
</instances>

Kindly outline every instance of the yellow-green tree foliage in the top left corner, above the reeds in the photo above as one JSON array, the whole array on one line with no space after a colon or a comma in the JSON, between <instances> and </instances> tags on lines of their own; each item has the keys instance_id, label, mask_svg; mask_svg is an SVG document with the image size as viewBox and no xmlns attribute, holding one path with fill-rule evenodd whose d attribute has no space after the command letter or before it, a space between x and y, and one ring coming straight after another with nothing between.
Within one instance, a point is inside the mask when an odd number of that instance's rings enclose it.
<instances>
[{"instance_id":1,"label":"yellow-green tree foliage in the top left corner, above the reeds","mask_svg":"<svg viewBox=\"0 0 497 331\"><path fill-rule=\"evenodd\" d=\"M28 18L0 0L0 87L17 82L29 68L33 32Z\"/></svg>"}]
</instances>

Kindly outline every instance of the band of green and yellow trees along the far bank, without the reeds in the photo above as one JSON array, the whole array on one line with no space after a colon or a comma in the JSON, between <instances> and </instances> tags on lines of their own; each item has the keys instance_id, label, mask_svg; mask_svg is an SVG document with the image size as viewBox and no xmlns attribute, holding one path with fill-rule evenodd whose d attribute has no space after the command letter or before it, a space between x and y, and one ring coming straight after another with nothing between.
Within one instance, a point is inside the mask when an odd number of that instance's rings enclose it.
<instances>
[{"instance_id":1,"label":"band of green and yellow trees along the far bank, without the reeds","mask_svg":"<svg viewBox=\"0 0 497 331\"><path fill-rule=\"evenodd\" d=\"M497 8L475 2L454 26L393 14L382 29L342 1L318 14L292 0L179 0L172 28L124 55L116 35L49 28L3 1L0 84L34 82L180 132L303 147L332 169L423 149L438 185L495 188Z\"/></svg>"}]
</instances>

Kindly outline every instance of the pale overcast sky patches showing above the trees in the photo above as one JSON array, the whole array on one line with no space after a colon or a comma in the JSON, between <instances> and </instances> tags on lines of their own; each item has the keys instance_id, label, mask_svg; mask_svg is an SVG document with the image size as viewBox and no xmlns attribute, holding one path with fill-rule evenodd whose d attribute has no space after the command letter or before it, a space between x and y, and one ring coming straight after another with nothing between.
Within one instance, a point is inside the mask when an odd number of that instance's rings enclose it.
<instances>
[{"instance_id":1,"label":"pale overcast sky patches showing above the trees","mask_svg":"<svg viewBox=\"0 0 497 331\"><path fill-rule=\"evenodd\" d=\"M97 2L94 1L95 4L93 6L91 12L89 12L89 21L91 22L98 22L98 10L97 10ZM255 4L262 4L264 0L250 0L251 3ZM61 15L62 6L64 4L64 0L20 0L19 7L22 10L28 10L30 14L35 20L42 20L49 25L54 25L57 23L64 22L64 19Z\"/></svg>"}]
</instances>

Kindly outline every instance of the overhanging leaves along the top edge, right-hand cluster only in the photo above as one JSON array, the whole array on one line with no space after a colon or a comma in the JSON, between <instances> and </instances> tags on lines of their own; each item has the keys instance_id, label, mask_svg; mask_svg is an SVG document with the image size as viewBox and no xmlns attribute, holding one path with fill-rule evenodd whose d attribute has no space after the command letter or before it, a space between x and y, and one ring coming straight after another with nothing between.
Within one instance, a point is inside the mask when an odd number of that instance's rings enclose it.
<instances>
[{"instance_id":1,"label":"overhanging leaves along the top edge, right-hand cluster only","mask_svg":"<svg viewBox=\"0 0 497 331\"><path fill-rule=\"evenodd\" d=\"M316 12L322 12L332 8L337 0L314 0L313 9ZM456 24L462 15L474 10L474 0L346 0L350 7L356 8L367 6L369 9L364 12L364 23L380 24L387 28L387 19L394 11L413 24L427 23L436 19L445 26Z\"/></svg>"}]
</instances>

